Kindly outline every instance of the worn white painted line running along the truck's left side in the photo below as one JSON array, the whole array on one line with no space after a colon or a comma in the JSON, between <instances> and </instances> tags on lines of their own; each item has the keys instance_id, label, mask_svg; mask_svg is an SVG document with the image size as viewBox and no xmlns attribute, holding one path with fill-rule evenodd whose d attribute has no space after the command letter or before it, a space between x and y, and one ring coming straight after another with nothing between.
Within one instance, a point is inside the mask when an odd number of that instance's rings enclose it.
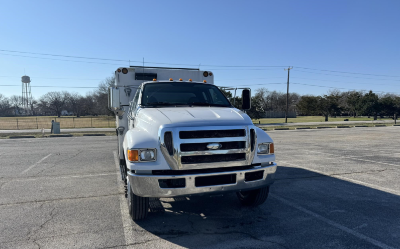
<instances>
[{"instance_id":1,"label":"worn white painted line running along the truck's left side","mask_svg":"<svg viewBox=\"0 0 400 249\"><path fill-rule=\"evenodd\" d=\"M117 170L120 171L120 159L118 157L117 151L114 151L114 161ZM117 183L119 192L123 193L125 191L125 188L122 184L121 174L117 174ZM134 226L134 223L131 216L129 216L128 204L127 204L128 201L123 194L120 194L119 196L120 196L121 219L124 229L125 244L133 244L135 242L133 238L135 237L135 235L137 236L137 234L133 233L132 227Z\"/></svg>"}]
</instances>

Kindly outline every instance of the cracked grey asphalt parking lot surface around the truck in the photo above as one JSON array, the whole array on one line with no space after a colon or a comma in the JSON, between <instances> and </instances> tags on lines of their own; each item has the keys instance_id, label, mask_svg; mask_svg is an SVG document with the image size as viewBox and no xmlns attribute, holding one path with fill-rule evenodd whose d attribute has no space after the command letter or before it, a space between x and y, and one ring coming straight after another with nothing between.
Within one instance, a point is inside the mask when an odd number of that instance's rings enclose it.
<instances>
[{"instance_id":1,"label":"cracked grey asphalt parking lot surface around the truck","mask_svg":"<svg viewBox=\"0 0 400 249\"><path fill-rule=\"evenodd\" d=\"M398 248L400 128L268 132L267 201L152 199L129 219L116 137L0 140L1 248Z\"/></svg>"}]
</instances>

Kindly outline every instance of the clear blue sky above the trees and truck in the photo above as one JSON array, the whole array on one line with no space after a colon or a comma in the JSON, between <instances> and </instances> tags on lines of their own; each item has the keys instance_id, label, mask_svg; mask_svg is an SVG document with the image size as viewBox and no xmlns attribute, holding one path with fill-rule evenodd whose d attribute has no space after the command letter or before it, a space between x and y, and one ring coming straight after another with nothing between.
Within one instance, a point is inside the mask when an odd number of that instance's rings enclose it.
<instances>
[{"instance_id":1,"label":"clear blue sky above the trees and truck","mask_svg":"<svg viewBox=\"0 0 400 249\"><path fill-rule=\"evenodd\" d=\"M2 1L1 6L0 50L194 65L293 66L293 83L400 93L400 77L296 68L400 76L400 1ZM119 66L4 54L127 65L0 51L0 85L20 85L25 69L35 97L60 90L85 94L89 89L34 86L95 87ZM284 83L287 76L283 67L201 69L212 69L219 86ZM250 87L262 86L286 90L285 84ZM327 90L290 85L290 91L300 94ZM20 92L21 87L0 86L5 95Z\"/></svg>"}]
</instances>

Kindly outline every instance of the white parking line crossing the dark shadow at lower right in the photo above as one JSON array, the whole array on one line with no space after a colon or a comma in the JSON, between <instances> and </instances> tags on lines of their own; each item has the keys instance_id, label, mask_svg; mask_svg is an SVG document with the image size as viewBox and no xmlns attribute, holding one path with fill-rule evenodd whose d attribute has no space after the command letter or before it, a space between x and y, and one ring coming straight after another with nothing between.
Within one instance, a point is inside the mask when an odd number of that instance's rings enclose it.
<instances>
[{"instance_id":1,"label":"white parking line crossing the dark shadow at lower right","mask_svg":"<svg viewBox=\"0 0 400 249\"><path fill-rule=\"evenodd\" d=\"M345 231L345 232L347 232L347 233L350 233L350 234L352 234L352 235L354 235L354 236L356 236L356 237L358 237L358 238L360 238L360 239L364 239L364 240L370 242L370 243L373 244L373 245L376 245L376 246L378 246L378 247L380 247L380 248L384 248L384 249L395 249L395 247L389 246L389 245L387 245L387 244L385 244L385 243L382 243L382 242L380 242L380 241L378 241L378 240L376 240L376 239L370 238L370 237L368 237L368 236L366 236L366 235L364 235L364 234L361 234L361 233L359 233L359 232L357 232L357 231L355 231L355 230L353 230L353 229L350 229L350 228L348 228L348 227L346 227L346 226L344 226L344 225L341 225L341 224L339 224L339 223L337 223L337 222L335 222L335 221L333 221L333 220L330 220L330 219L328 219L328 218L325 218L324 216L321 216L321 215L319 215L318 213L315 213L315 212L310 211L310 210L308 210L308 209L306 209L306 208L304 208L304 207L302 207L302 206L299 206L299 205L297 205L297 204L295 204L295 203L293 203L293 202L291 202L291 201L288 201L288 200L286 200L286 199L283 199L283 198L281 198L281 197L278 197L278 196L276 196L275 194L269 194L269 195L270 195L271 197L273 197L273 198L275 198L275 199L277 199L277 200L279 200L279 201L285 203L285 204L288 205L288 206L294 207L294 208L297 209L297 210L300 210L300 211L302 211L302 212L305 212L305 213L307 213L307 214L309 214L309 215L311 215L311 216L313 216L313 217L315 217L315 218L317 218L317 219L319 219L319 220L322 220L322 221L324 221L324 222L326 222L326 223L328 223L328 224L330 224L330 225L332 225L332 226L334 226L334 227L336 227L336 228L338 228L338 229L340 229L340 230L342 230L342 231Z\"/></svg>"}]
</instances>

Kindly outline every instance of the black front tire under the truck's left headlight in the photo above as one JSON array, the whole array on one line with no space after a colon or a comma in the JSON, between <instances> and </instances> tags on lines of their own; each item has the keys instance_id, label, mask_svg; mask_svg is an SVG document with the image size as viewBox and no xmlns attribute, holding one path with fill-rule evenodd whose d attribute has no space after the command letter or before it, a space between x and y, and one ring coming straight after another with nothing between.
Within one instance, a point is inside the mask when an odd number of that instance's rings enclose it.
<instances>
[{"instance_id":1,"label":"black front tire under the truck's left headlight","mask_svg":"<svg viewBox=\"0 0 400 249\"><path fill-rule=\"evenodd\" d=\"M144 219L149 212L149 197L141 197L133 193L128 181L128 209L133 220Z\"/></svg>"}]
</instances>

